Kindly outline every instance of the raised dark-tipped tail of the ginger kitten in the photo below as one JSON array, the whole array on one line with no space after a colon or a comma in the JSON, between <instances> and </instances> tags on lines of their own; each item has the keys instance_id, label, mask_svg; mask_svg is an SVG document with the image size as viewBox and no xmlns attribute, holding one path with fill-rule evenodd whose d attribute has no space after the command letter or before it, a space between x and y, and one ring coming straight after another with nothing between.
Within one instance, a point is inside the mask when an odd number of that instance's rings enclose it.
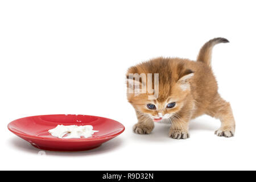
<instances>
[{"instance_id":1,"label":"raised dark-tipped tail of the ginger kitten","mask_svg":"<svg viewBox=\"0 0 256 182\"><path fill-rule=\"evenodd\" d=\"M207 64L208 67L210 67L210 62L212 58L212 48L213 46L219 43L229 43L229 41L224 38L215 38L215 39L209 40L200 49L199 55L197 56L197 61L203 62Z\"/></svg>"}]
</instances>

